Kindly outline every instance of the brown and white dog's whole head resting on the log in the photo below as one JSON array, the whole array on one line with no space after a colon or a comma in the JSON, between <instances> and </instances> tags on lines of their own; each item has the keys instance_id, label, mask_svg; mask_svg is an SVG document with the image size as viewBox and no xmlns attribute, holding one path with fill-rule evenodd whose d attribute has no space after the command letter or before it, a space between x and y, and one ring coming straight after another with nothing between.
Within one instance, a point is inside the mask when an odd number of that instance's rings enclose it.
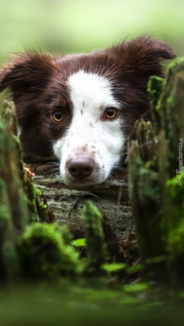
<instances>
[{"instance_id":1,"label":"brown and white dog's whole head resting on the log","mask_svg":"<svg viewBox=\"0 0 184 326\"><path fill-rule=\"evenodd\" d=\"M90 54L27 52L0 72L16 105L25 153L56 155L63 181L97 184L119 164L135 120L149 109L147 82L163 77L165 43L137 37Z\"/></svg>"}]
</instances>

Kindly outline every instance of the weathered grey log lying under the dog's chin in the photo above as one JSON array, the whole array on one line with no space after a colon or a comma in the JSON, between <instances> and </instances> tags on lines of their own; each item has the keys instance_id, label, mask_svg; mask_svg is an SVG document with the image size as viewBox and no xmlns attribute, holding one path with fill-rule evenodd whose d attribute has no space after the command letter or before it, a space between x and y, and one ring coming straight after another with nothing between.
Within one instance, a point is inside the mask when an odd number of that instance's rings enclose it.
<instances>
[{"instance_id":1,"label":"weathered grey log lying under the dog's chin","mask_svg":"<svg viewBox=\"0 0 184 326\"><path fill-rule=\"evenodd\" d=\"M27 164L36 176L35 184L41 190L42 196L46 198L47 204L53 211L59 224L66 224L75 237L84 236L83 209L87 199L91 199L100 213L105 215L118 239L127 238L131 226L131 208L129 206L128 191L125 181L108 181L103 186L91 186L86 189L69 189L60 186L59 175L51 176L55 166L44 166L38 164ZM119 173L119 177L122 177ZM122 195L120 205L117 200L120 185Z\"/></svg>"}]
</instances>

